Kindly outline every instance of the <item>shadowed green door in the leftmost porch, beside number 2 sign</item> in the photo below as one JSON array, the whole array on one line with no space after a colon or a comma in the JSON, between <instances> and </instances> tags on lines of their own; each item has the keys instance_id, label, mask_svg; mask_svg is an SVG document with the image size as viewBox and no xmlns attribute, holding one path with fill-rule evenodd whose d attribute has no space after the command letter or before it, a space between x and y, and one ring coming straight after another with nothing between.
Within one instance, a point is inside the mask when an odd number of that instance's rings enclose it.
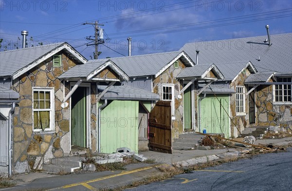
<instances>
[{"instance_id":1,"label":"shadowed green door in the leftmost porch, beside number 2 sign","mask_svg":"<svg viewBox=\"0 0 292 191\"><path fill-rule=\"evenodd\" d=\"M86 147L86 87L71 96L71 145Z\"/></svg>"}]
</instances>

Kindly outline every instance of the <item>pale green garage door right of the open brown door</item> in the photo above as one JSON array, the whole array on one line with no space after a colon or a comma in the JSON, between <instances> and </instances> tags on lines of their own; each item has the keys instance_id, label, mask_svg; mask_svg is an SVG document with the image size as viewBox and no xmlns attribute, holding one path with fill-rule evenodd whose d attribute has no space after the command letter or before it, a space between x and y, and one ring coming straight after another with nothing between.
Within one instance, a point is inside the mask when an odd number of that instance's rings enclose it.
<instances>
[{"instance_id":1,"label":"pale green garage door right of the open brown door","mask_svg":"<svg viewBox=\"0 0 292 191\"><path fill-rule=\"evenodd\" d=\"M225 111L229 111L229 98L226 96L206 96L201 100L201 131L224 133L229 137L230 120ZM225 110L224 110L225 109Z\"/></svg>"}]
</instances>

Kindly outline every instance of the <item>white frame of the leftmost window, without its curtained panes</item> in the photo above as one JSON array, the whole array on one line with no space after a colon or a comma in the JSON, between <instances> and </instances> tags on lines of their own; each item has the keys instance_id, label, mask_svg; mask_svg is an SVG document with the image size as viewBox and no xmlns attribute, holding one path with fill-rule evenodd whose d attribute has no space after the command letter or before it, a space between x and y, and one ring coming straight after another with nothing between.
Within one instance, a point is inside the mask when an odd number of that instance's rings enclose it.
<instances>
[{"instance_id":1,"label":"white frame of the leftmost window, without its curtained panes","mask_svg":"<svg viewBox=\"0 0 292 191\"><path fill-rule=\"evenodd\" d=\"M49 87L33 87L33 104L32 104L32 108L33 108L33 112L32 112L32 119L33 119L33 131L34 132L50 132L50 131L54 131L55 130L55 88L49 88ZM50 109L34 109L34 92L35 91L45 91L45 92L50 92L50 105L51 108ZM50 111L50 128L45 128L43 129L35 129L35 124L34 124L34 111Z\"/></svg>"}]
</instances>

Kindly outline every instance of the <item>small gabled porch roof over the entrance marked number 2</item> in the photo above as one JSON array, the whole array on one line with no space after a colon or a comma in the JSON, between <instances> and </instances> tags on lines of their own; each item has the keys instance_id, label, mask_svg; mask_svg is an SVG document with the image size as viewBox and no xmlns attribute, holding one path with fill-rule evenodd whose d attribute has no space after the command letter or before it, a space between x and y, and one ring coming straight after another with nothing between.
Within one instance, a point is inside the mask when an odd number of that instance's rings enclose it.
<instances>
[{"instance_id":1,"label":"small gabled porch roof over the entrance marked number 2","mask_svg":"<svg viewBox=\"0 0 292 191\"><path fill-rule=\"evenodd\" d=\"M86 64L83 65L75 65L70 70L64 72L59 79L77 79L77 78L86 78L86 80L91 80L96 74L101 72L109 66L122 80L129 80L128 75L122 71L116 64L114 64L109 59L100 59L88 61Z\"/></svg>"}]
</instances>

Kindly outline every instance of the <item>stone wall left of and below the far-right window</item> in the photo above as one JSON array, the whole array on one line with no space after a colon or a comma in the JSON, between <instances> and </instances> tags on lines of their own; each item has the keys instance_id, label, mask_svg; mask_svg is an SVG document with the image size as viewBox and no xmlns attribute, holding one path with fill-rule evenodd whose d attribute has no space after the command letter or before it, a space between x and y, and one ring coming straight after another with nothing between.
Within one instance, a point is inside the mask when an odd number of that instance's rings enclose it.
<instances>
[{"instance_id":1,"label":"stone wall left of and below the far-right window","mask_svg":"<svg viewBox=\"0 0 292 191\"><path fill-rule=\"evenodd\" d=\"M292 131L292 104L273 104L273 85L256 88L258 126L280 126Z\"/></svg>"}]
</instances>

